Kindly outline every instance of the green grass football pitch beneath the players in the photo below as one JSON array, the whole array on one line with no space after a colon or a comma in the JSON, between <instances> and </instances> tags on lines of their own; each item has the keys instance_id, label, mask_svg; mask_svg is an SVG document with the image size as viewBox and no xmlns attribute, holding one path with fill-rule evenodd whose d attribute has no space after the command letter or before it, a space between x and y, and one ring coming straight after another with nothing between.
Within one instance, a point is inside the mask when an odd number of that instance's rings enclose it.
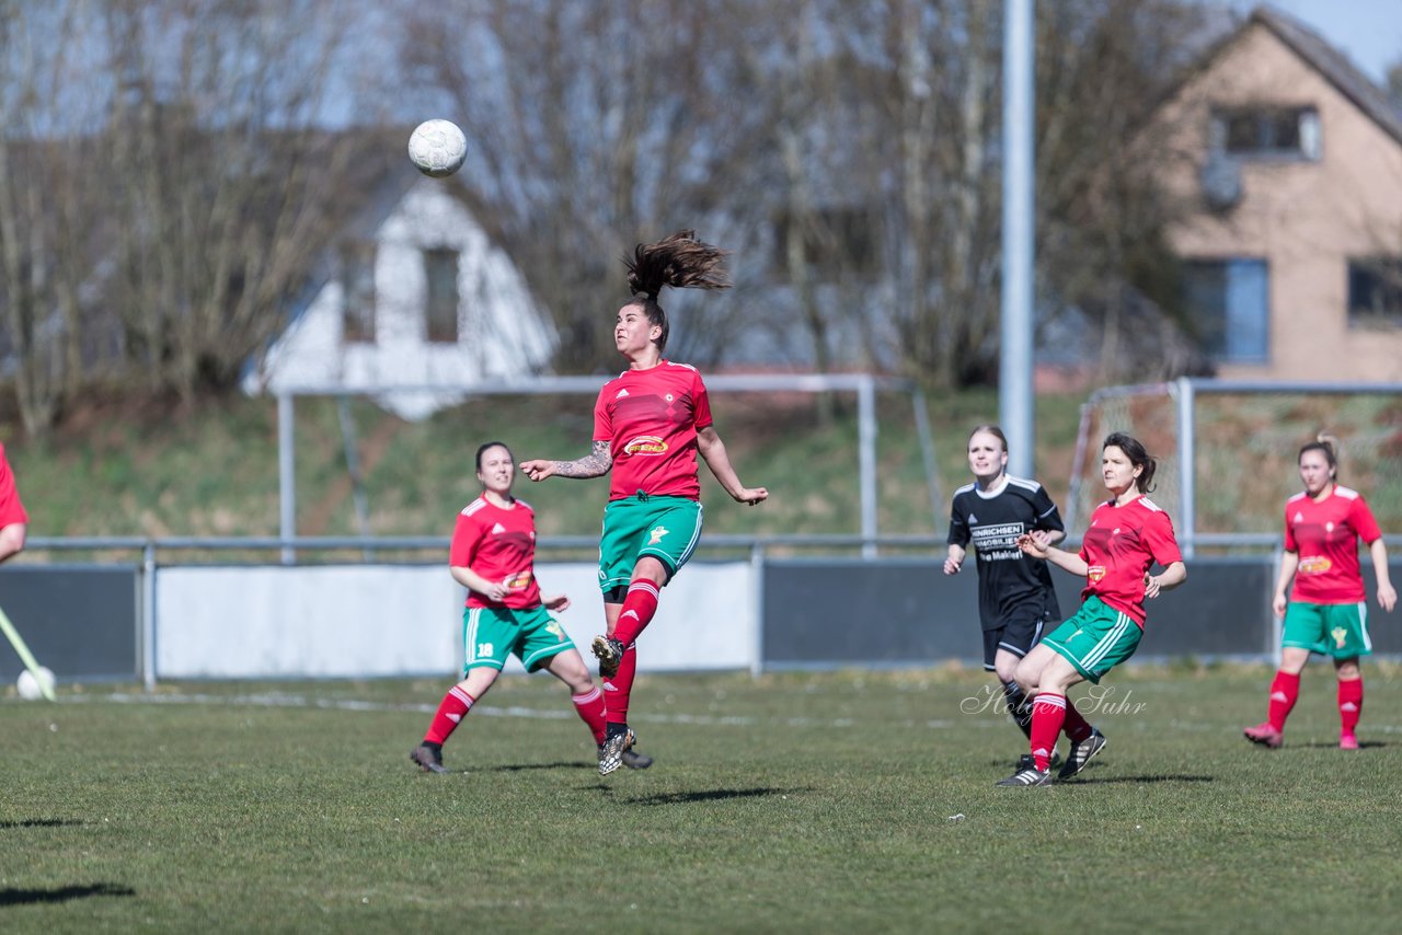
<instances>
[{"instance_id":1,"label":"green grass football pitch beneath the players","mask_svg":"<svg viewBox=\"0 0 1402 935\"><path fill-rule=\"evenodd\" d=\"M1366 674L1345 753L1323 667L1279 751L1239 733L1263 667L1116 673L1109 747L1043 789L994 788L1021 735L953 669L645 677L658 765L607 779L548 676L450 775L405 756L447 680L11 690L0 927L1389 932L1402 671Z\"/></svg>"}]
</instances>

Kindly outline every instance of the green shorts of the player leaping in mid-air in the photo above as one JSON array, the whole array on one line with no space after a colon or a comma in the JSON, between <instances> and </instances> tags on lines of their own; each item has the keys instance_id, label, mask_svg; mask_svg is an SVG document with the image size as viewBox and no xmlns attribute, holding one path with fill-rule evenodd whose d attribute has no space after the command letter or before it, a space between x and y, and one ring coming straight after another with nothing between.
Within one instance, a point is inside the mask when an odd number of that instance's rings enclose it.
<instances>
[{"instance_id":1,"label":"green shorts of the player leaping in mid-air","mask_svg":"<svg viewBox=\"0 0 1402 935\"><path fill-rule=\"evenodd\" d=\"M632 580L638 559L651 555L667 568L667 580L687 564L701 538L701 503L684 496L638 493L604 507L599 538L599 589L604 596Z\"/></svg>"}]
</instances>

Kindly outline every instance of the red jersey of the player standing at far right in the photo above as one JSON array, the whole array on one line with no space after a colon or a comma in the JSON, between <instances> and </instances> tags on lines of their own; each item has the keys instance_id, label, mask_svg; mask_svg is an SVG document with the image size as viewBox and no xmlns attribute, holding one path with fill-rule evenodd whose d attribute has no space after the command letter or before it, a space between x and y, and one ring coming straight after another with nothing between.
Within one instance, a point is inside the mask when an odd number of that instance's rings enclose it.
<instances>
[{"instance_id":1,"label":"red jersey of the player standing at far right","mask_svg":"<svg viewBox=\"0 0 1402 935\"><path fill-rule=\"evenodd\" d=\"M1300 555L1290 600L1311 604L1357 604L1364 600L1359 540L1382 535L1363 495L1333 485L1315 502L1300 492L1286 500L1286 551Z\"/></svg>"}]
</instances>

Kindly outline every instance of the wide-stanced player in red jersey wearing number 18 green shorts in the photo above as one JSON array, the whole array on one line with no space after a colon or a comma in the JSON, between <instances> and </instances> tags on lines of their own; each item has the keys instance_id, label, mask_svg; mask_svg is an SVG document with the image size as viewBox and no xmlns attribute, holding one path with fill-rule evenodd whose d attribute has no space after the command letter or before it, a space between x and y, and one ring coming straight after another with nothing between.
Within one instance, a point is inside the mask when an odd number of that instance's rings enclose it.
<instances>
[{"instance_id":1,"label":"wide-stanced player in red jersey wearing number 18 green shorts","mask_svg":"<svg viewBox=\"0 0 1402 935\"><path fill-rule=\"evenodd\" d=\"M544 669L569 685L575 711L589 726L603 758L603 692L575 643L550 614L569 607L569 597L540 593L536 512L512 496L515 478L516 464L505 444L488 442L477 450L482 495L458 513L449 550L449 571L467 587L463 681L443 695L423 742L409 751L409 760L429 772L447 772L443 742L492 687L512 653L527 671ZM631 756L627 765L644 770L652 761Z\"/></svg>"}]
</instances>

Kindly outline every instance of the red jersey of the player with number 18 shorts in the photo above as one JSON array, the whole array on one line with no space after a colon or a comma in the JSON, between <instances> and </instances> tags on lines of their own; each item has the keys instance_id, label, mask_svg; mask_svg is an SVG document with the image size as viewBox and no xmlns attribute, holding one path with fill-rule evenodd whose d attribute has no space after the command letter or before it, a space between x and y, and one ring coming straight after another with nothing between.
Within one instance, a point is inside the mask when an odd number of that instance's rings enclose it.
<instances>
[{"instance_id":1,"label":"red jersey of the player with number 18 shorts","mask_svg":"<svg viewBox=\"0 0 1402 935\"><path fill-rule=\"evenodd\" d=\"M536 583L536 510L526 500L516 500L509 510L479 496L457 514L449 565L471 568L489 582L512 578L505 600L467 592L468 607L540 607Z\"/></svg>"}]
</instances>

